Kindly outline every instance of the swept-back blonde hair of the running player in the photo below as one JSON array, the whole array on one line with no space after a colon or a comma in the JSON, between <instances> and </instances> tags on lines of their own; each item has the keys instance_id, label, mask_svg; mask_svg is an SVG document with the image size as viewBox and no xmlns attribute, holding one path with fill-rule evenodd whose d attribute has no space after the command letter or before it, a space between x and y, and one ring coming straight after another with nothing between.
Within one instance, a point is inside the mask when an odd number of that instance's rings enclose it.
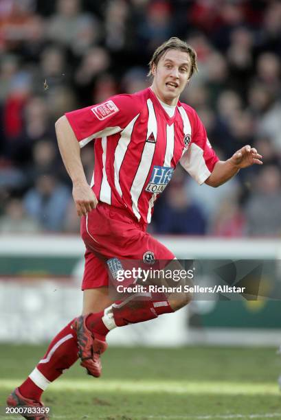
<instances>
[{"instance_id":1,"label":"swept-back blonde hair of the running player","mask_svg":"<svg viewBox=\"0 0 281 420\"><path fill-rule=\"evenodd\" d=\"M162 56L168 51L168 49L179 49L179 51L184 51L188 53L188 56L190 56L190 75L189 78L192 77L192 74L194 71L198 71L197 67L197 54L194 48L191 47L188 43L185 41L177 38L177 36L172 36L172 38L168 39L165 43L161 44L157 49L155 49L153 56L148 63L149 65L149 72L148 76L152 75L152 69L153 65L157 67L157 64Z\"/></svg>"}]
</instances>

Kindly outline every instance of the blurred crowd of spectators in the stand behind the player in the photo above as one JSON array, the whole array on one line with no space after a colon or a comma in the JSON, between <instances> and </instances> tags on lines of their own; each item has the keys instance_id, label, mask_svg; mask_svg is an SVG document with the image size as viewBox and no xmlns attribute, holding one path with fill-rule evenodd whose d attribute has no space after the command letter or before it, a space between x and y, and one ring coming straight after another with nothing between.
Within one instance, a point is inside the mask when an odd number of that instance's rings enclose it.
<instances>
[{"instance_id":1,"label":"blurred crowd of spectators in the stand behind the player","mask_svg":"<svg viewBox=\"0 0 281 420\"><path fill-rule=\"evenodd\" d=\"M281 236L281 2L1 0L0 233L79 231L54 132L69 110L149 86L148 61L170 36L199 59L181 100L221 159L254 145L251 167L218 189L179 169L150 231ZM93 148L82 149L87 176Z\"/></svg>"}]
</instances>

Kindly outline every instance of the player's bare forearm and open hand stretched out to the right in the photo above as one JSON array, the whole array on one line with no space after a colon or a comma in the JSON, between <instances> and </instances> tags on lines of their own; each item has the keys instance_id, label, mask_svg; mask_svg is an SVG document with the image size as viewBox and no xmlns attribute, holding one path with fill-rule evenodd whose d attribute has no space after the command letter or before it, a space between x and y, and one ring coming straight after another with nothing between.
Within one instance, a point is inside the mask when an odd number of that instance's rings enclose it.
<instances>
[{"instance_id":1,"label":"player's bare forearm and open hand stretched out to the right","mask_svg":"<svg viewBox=\"0 0 281 420\"><path fill-rule=\"evenodd\" d=\"M210 187L219 187L236 175L240 169L251 165L262 165L262 156L255 148L245 145L237 150L227 161L218 161L214 165L212 174L205 180L205 184Z\"/></svg>"}]
</instances>

